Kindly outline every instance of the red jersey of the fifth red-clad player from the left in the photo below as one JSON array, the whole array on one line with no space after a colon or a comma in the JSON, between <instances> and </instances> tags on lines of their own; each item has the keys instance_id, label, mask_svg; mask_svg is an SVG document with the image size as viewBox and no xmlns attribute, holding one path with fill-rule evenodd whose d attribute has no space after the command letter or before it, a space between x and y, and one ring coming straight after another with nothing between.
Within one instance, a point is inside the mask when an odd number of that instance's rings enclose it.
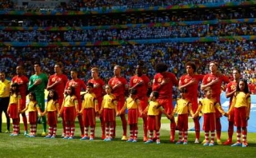
<instances>
[{"instance_id":1,"label":"red jersey of the fifth red-clad player from the left","mask_svg":"<svg viewBox=\"0 0 256 158\"><path fill-rule=\"evenodd\" d=\"M122 84L122 86L119 86L116 89L112 90L112 93L115 95L115 97L124 97L126 93L126 89L128 89L128 83L126 81L126 78L124 77L112 77L110 78L110 81L108 84L111 87L114 87L114 85L118 85L119 83Z\"/></svg>"}]
</instances>

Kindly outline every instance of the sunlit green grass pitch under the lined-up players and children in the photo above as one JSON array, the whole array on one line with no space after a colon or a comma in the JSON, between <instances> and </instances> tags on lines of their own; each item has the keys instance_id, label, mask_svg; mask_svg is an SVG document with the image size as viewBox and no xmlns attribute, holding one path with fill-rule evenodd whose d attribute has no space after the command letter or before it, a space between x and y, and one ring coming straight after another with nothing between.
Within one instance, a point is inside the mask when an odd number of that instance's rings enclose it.
<instances>
[{"instance_id":1,"label":"sunlit green grass pitch under the lined-up players and children","mask_svg":"<svg viewBox=\"0 0 256 158\"><path fill-rule=\"evenodd\" d=\"M248 133L249 147L230 147L215 145L204 147L202 144L194 144L194 132L189 132L187 145L170 144L170 129L168 120L162 119L161 144L144 144L142 142L142 120L139 120L139 140L137 143L122 141L122 127L118 118L117 137L110 142L100 140L101 131L96 128L96 139L79 140L80 130L76 124L76 137L74 140L63 140L61 124L58 124L58 137L45 139L42 133L42 124L38 124L38 136L27 138L22 134L9 136L0 133L0 157L255 157L256 133ZM98 120L99 121L99 120ZM99 122L97 121L97 125ZM23 124L21 124L23 128ZM2 131L6 124L2 124ZM23 130L22 130L23 132ZM129 131L128 131L129 133ZM222 132L222 140L226 140L227 133ZM234 133L235 136L235 133ZM177 138L176 131L176 138ZM203 132L201 133L203 140ZM234 137L235 141L235 137Z\"/></svg>"}]
</instances>

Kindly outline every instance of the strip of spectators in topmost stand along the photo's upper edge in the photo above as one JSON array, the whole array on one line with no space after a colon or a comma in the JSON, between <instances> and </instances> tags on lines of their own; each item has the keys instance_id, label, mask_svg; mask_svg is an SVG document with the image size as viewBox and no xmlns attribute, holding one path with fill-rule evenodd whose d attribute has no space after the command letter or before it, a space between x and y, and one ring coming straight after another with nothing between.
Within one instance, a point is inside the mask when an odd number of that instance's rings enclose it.
<instances>
[{"instance_id":1,"label":"strip of spectators in topmost stand along the photo's upper edge","mask_svg":"<svg viewBox=\"0 0 256 158\"><path fill-rule=\"evenodd\" d=\"M70 3L61 4L49 2L33 3L29 5L14 5L11 0L0 1L0 9L26 10L26 11L66 11L66 10L111 10L111 9L138 9L151 6L175 6L195 5L219 2L246 2L248 0L73 0ZM54 5L53 5L54 4Z\"/></svg>"}]
</instances>

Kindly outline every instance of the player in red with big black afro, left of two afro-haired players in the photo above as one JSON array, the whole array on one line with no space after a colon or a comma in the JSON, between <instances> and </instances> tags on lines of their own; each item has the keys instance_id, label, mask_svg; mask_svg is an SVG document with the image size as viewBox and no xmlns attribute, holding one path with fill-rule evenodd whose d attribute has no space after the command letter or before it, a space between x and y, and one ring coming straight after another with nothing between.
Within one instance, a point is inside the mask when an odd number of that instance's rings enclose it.
<instances>
[{"instance_id":1,"label":"player in red with big black afro, left of two afro-haired players","mask_svg":"<svg viewBox=\"0 0 256 158\"><path fill-rule=\"evenodd\" d=\"M158 63L155 66L157 74L154 75L152 90L158 91L158 103L162 105L165 112L170 114L173 112L173 86L178 85L177 77L174 73L167 72L167 65ZM160 113L161 115L162 113ZM161 117L159 117L161 119ZM170 119L170 142L174 142L176 123L174 117Z\"/></svg>"}]
</instances>

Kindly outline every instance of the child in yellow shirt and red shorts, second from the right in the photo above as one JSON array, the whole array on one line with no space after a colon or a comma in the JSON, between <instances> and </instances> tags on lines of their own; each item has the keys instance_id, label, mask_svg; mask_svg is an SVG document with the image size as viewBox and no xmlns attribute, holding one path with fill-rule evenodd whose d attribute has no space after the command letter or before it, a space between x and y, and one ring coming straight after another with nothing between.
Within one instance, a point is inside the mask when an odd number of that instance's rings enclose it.
<instances>
[{"instance_id":1,"label":"child in yellow shirt and red shorts, second from the right","mask_svg":"<svg viewBox=\"0 0 256 158\"><path fill-rule=\"evenodd\" d=\"M198 116L198 113L203 113L203 127L205 131L205 143L204 146L214 146L215 137L215 107L218 109L222 115L227 116L223 111L221 105L212 97L212 89L210 87L205 89L206 97L199 101L198 109L194 113L194 117ZM209 132L210 132L210 142L209 142Z\"/></svg>"}]
</instances>

